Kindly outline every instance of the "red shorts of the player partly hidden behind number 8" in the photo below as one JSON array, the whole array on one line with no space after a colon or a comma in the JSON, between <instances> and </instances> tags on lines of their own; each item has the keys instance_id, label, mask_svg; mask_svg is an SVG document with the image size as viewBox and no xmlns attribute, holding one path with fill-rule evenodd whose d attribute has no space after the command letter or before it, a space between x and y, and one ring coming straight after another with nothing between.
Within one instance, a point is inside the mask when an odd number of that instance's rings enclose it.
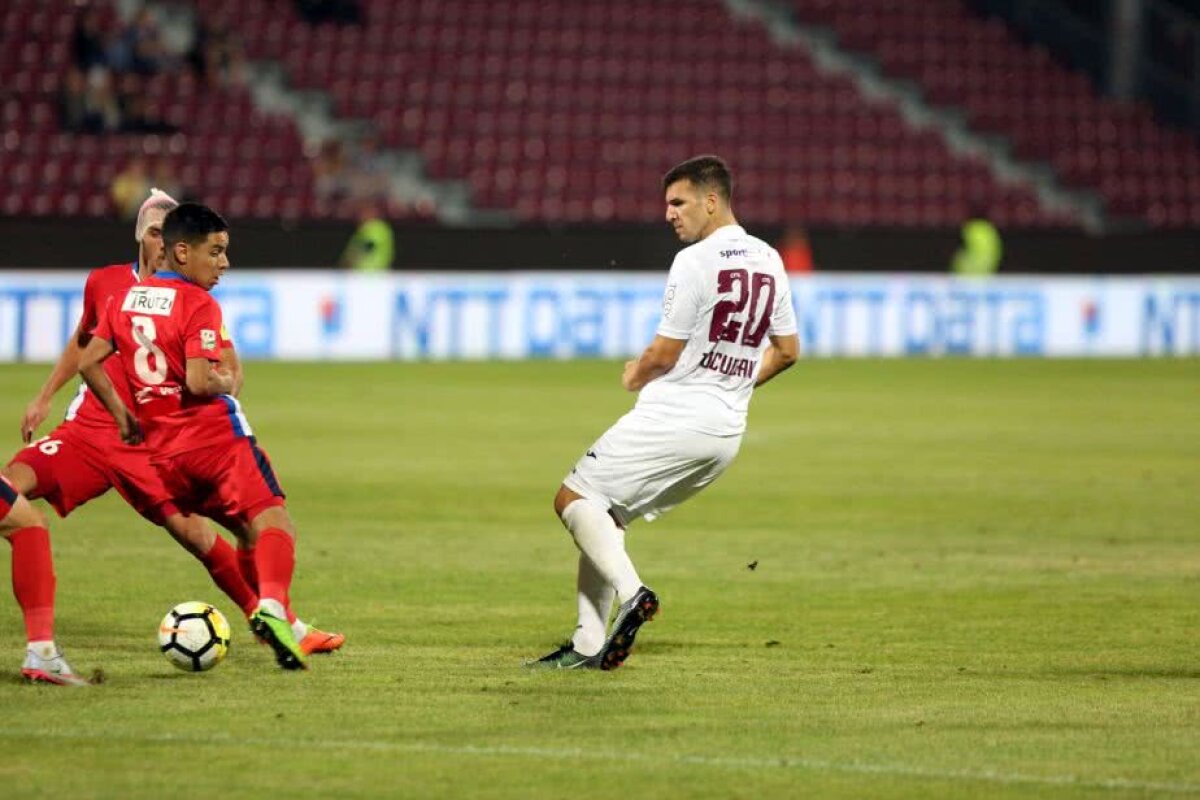
<instances>
[{"instance_id":1,"label":"red shorts of the player partly hidden behind number 8","mask_svg":"<svg viewBox=\"0 0 1200 800\"><path fill-rule=\"evenodd\" d=\"M43 498L60 517L109 488L116 489L139 515L161 525L176 513L150 451L127 445L116 434L64 422L48 437L17 451L10 464L25 464L37 475L30 498Z\"/></svg>"}]
</instances>

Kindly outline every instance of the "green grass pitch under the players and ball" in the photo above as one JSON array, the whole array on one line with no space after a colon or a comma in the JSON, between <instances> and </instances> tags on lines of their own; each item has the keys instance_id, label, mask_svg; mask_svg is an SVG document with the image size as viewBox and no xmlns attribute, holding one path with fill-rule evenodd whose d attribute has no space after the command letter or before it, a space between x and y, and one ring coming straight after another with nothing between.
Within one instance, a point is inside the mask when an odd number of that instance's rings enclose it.
<instances>
[{"instance_id":1,"label":"green grass pitch under the players and ball","mask_svg":"<svg viewBox=\"0 0 1200 800\"><path fill-rule=\"evenodd\" d=\"M662 613L626 666L529 673L574 626L551 500L619 369L248 365L295 607L344 651L280 672L106 497L52 522L103 685L23 685L0 601L0 795L1200 794L1200 363L800 362L727 475L631 528ZM0 367L10 451L46 372ZM184 600L235 622L211 673L156 651Z\"/></svg>"}]
</instances>

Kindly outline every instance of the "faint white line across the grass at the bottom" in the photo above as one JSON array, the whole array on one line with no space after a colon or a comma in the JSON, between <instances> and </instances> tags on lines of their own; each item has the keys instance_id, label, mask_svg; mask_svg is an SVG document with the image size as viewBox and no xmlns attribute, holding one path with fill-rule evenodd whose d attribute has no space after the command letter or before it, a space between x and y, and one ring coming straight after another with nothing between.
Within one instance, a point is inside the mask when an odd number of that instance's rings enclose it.
<instances>
[{"instance_id":1,"label":"faint white line across the grass at the bottom","mask_svg":"<svg viewBox=\"0 0 1200 800\"><path fill-rule=\"evenodd\" d=\"M940 770L924 766L910 766L907 764L869 764L864 762L827 762L811 758L797 758L781 756L779 758L733 758L724 756L689 756L685 753L658 753L646 756L642 753L612 753L595 752L590 750L572 750L557 747L509 747L509 746L478 746L478 745L433 745L425 742L403 741L376 741L359 739L342 740L314 740L314 739L240 739L221 734L193 736L176 734L156 735L130 735L116 733L86 734L68 733L60 730L14 730L11 728L0 730L0 738L37 740L37 739L71 739L82 741L112 742L116 740L140 742L140 744L178 744L191 745L236 745L250 747L253 745L278 746L281 748L310 748L310 750L372 750L377 752L396 753L436 753L440 756L481 756L486 758L499 757L533 757L554 758L559 760L593 760L593 762L674 762L677 764L691 764L697 766L727 768L740 770L766 770L766 769L794 769L824 772L848 772L852 775L893 775L902 777L931 778L942 781L977 781L982 783L1002 784L1031 784L1031 786L1064 786L1080 789L1114 789L1135 792L1165 792L1171 794L1200 794L1200 783L1169 783L1154 781L1135 781L1130 778L1103 778L1092 780L1078 775L1026 775L1022 772L1000 772L995 770Z\"/></svg>"}]
</instances>

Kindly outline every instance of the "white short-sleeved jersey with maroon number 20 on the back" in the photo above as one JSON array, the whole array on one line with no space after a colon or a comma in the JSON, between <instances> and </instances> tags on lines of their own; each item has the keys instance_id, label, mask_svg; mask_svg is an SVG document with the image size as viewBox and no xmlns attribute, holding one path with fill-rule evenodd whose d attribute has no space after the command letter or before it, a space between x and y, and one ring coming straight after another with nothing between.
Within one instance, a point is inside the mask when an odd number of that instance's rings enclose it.
<instances>
[{"instance_id":1,"label":"white short-sleeved jersey with maroon number 20 on the back","mask_svg":"<svg viewBox=\"0 0 1200 800\"><path fill-rule=\"evenodd\" d=\"M743 433L769 337L796 333L779 253L738 225L679 251L658 333L688 344L671 372L642 389L634 414L710 435Z\"/></svg>"}]
</instances>

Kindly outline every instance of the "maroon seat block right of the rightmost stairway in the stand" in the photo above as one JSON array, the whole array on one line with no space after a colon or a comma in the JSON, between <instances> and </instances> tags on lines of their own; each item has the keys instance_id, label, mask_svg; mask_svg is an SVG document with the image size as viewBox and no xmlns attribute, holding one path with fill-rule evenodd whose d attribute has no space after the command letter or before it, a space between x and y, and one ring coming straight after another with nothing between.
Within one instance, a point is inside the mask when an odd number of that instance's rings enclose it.
<instances>
[{"instance_id":1,"label":"maroon seat block right of the rightmost stairway in the stand","mask_svg":"<svg viewBox=\"0 0 1200 800\"><path fill-rule=\"evenodd\" d=\"M917 82L930 102L1007 137L1072 186L1098 191L1109 211L1170 228L1200 225L1200 148L1156 121L1144 103L1098 95L1081 73L1020 41L962 0L792 0L797 18L834 30L886 73Z\"/></svg>"}]
</instances>

